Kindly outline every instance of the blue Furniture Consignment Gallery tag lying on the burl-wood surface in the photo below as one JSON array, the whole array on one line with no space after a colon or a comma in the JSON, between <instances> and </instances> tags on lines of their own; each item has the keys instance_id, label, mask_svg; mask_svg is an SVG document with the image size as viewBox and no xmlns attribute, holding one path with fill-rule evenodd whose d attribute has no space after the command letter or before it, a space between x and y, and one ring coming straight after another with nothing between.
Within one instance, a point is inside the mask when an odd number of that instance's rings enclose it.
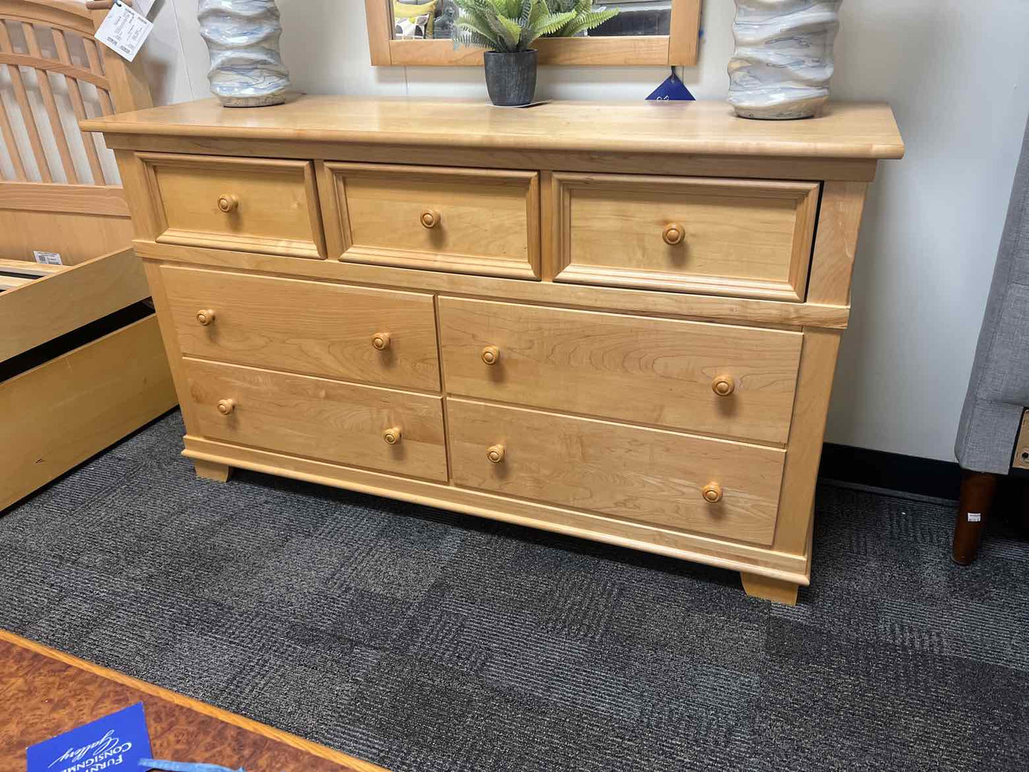
<instances>
[{"instance_id":1,"label":"blue Furniture Consignment Gallery tag lying on the burl-wood surface","mask_svg":"<svg viewBox=\"0 0 1029 772\"><path fill-rule=\"evenodd\" d=\"M137 770L140 759L150 758L143 703L30 745L25 755L28 772Z\"/></svg>"}]
</instances>

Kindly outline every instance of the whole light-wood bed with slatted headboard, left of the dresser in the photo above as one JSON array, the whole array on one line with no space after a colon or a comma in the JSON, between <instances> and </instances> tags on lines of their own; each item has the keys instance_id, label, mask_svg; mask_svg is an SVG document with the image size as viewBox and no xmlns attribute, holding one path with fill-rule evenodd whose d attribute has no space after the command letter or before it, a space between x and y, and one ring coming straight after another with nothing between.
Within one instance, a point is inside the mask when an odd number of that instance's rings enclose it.
<instances>
[{"instance_id":1,"label":"whole light-wood bed with slatted headboard, left of the dresser","mask_svg":"<svg viewBox=\"0 0 1029 772\"><path fill-rule=\"evenodd\" d=\"M114 166L65 128L152 106L93 37L109 7L0 0L0 511L176 402Z\"/></svg>"}]
</instances>

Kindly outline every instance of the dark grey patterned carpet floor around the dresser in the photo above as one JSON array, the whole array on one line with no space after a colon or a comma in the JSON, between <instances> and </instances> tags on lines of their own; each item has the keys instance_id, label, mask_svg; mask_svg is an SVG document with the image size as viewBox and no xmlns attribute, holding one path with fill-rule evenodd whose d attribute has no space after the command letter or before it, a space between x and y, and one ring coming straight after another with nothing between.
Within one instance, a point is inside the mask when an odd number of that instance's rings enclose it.
<instances>
[{"instance_id":1,"label":"dark grey patterned carpet floor around the dresser","mask_svg":"<svg viewBox=\"0 0 1029 772\"><path fill-rule=\"evenodd\" d=\"M1025 770L1029 545L822 485L737 574L241 472L177 413L0 517L0 627L395 772Z\"/></svg>"}]
</instances>

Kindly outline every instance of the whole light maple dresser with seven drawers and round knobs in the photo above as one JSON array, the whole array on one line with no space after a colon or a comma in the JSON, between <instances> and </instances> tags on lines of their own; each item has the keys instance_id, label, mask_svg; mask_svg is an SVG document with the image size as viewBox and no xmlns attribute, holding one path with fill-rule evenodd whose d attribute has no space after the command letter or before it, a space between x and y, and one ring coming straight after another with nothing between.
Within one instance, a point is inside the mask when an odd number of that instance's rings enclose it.
<instances>
[{"instance_id":1,"label":"whole light maple dresser with seven drawers and round knobs","mask_svg":"<svg viewBox=\"0 0 1029 772\"><path fill-rule=\"evenodd\" d=\"M199 475L808 584L889 107L304 97L84 127L118 157Z\"/></svg>"}]
</instances>

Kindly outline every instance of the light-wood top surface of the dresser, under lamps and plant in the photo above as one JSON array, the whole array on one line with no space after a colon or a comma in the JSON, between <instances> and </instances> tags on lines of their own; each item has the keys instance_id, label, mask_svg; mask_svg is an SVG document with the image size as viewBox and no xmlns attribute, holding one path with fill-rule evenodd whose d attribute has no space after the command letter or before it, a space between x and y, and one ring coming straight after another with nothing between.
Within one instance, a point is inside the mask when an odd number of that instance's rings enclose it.
<instances>
[{"instance_id":1,"label":"light-wood top surface of the dresser, under lamps and plant","mask_svg":"<svg viewBox=\"0 0 1029 772\"><path fill-rule=\"evenodd\" d=\"M568 102L301 96L284 105L185 102L82 122L87 131L171 137L825 159L899 159L889 105L830 102L820 117L751 120L724 102Z\"/></svg>"}]
</instances>

